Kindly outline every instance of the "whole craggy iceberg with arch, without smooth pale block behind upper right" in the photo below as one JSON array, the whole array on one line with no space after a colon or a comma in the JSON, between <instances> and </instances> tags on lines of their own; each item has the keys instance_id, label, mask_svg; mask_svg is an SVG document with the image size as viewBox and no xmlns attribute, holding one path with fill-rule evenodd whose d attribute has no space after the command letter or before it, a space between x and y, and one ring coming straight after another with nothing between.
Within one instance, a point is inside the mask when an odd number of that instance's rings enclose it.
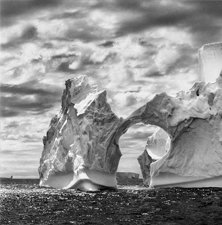
<instances>
[{"instance_id":1,"label":"whole craggy iceberg with arch, without smooth pale block behind upper right","mask_svg":"<svg viewBox=\"0 0 222 225\"><path fill-rule=\"evenodd\" d=\"M138 158L147 185L222 187L219 74L214 83L195 83L176 97L158 94L125 119L112 112L106 91L87 77L67 80L61 111L43 138L40 185L86 191L116 188L119 138L136 123L156 125L171 140L154 134Z\"/></svg>"}]
</instances>

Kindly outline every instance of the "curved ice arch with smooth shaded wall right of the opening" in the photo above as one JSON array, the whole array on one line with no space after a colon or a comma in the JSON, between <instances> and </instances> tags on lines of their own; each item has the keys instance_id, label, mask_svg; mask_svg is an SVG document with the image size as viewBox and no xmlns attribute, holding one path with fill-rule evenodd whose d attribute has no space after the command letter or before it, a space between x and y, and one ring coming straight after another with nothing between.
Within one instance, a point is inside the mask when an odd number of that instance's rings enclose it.
<instances>
[{"instance_id":1,"label":"curved ice arch with smooth shaded wall right of the opening","mask_svg":"<svg viewBox=\"0 0 222 225\"><path fill-rule=\"evenodd\" d=\"M196 85L191 90L198 98L203 94L200 87L201 85ZM150 164L151 185L221 186L222 146L221 131L218 132L221 129L220 116L207 120L202 118L203 115L198 118L198 114L207 110L203 104L202 112L193 107L186 109L188 113L193 113L193 117L187 118L185 113L185 118L180 118L184 115L181 115L183 112L178 109L174 100L163 93L136 110L119 126L107 152L112 153L113 148L118 149L119 137L133 124L142 122L157 125L169 134L172 144L163 158ZM199 99L199 104L204 103L202 100ZM208 108L210 105L211 103Z\"/></svg>"}]
</instances>

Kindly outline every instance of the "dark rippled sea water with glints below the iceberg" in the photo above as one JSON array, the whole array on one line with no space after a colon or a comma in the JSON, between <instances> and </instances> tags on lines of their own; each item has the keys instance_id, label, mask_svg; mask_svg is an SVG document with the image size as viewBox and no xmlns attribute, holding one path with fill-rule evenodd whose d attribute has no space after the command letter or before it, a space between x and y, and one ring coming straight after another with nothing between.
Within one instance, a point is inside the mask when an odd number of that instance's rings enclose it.
<instances>
[{"instance_id":1,"label":"dark rippled sea water with glints below the iceberg","mask_svg":"<svg viewBox=\"0 0 222 225\"><path fill-rule=\"evenodd\" d=\"M116 191L41 188L1 180L0 224L220 224L221 188L121 185Z\"/></svg>"}]
</instances>

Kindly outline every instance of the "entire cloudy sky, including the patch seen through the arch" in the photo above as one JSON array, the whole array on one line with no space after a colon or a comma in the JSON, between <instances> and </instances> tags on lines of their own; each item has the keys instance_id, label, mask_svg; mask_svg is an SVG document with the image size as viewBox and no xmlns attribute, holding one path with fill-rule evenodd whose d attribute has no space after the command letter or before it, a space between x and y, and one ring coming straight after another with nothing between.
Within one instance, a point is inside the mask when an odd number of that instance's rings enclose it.
<instances>
[{"instance_id":1,"label":"entire cloudy sky, including the patch seen through the arch","mask_svg":"<svg viewBox=\"0 0 222 225\"><path fill-rule=\"evenodd\" d=\"M87 75L127 117L160 92L200 79L198 49L222 41L219 0L0 0L0 176L38 177L42 137L59 112L65 80ZM120 139L119 170L153 127Z\"/></svg>"}]
</instances>

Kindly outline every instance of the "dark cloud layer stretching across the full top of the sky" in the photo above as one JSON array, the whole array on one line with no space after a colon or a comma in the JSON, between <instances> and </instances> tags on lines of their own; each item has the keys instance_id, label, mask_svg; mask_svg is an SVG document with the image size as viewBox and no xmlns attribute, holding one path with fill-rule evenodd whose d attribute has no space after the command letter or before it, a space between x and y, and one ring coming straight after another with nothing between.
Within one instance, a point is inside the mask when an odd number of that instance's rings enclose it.
<instances>
[{"instance_id":1,"label":"dark cloud layer stretching across the full top of the sky","mask_svg":"<svg viewBox=\"0 0 222 225\"><path fill-rule=\"evenodd\" d=\"M60 5L60 11L56 8L58 5ZM35 18L40 10L47 12L42 20L47 20L49 27L53 20L60 21L58 22L60 24L61 21L66 20L65 23L62 22L62 26L68 24L68 28L64 30L62 36L70 41L80 39L89 42L101 40L107 36L110 38L113 34L124 36L158 27L188 29L193 34L197 47L206 41L221 40L222 4L219 0L182 0L177 3L171 0L113 0L91 3L58 0L22 0L19 2L3 0L1 6L3 24L11 24L19 21L19 18L23 16L26 18L27 15ZM103 21L108 18L112 19L104 24L101 16ZM81 28L84 29L81 30Z\"/></svg>"}]
</instances>

